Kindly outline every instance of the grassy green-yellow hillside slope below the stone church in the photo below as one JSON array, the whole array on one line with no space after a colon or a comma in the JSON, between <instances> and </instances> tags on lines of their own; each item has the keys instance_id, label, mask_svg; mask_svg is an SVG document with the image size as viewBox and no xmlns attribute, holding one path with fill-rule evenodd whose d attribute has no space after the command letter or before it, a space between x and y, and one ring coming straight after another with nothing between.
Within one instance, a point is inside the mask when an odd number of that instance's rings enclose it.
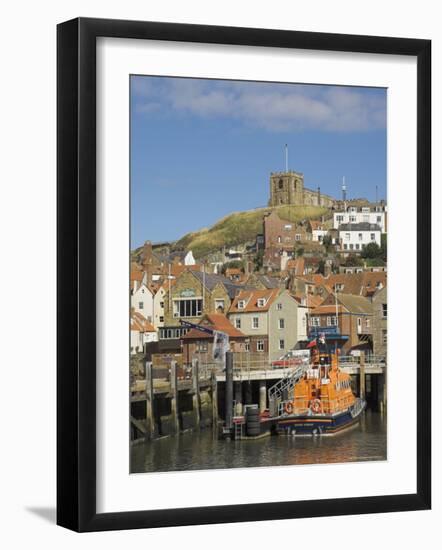
<instances>
[{"instance_id":1,"label":"grassy green-yellow hillside slope below the stone church","mask_svg":"<svg viewBox=\"0 0 442 550\"><path fill-rule=\"evenodd\" d=\"M278 206L257 208L245 212L233 212L212 227L184 235L175 243L176 248L192 250L196 258L215 252L223 246L234 246L253 241L262 233L262 218L266 212L277 210L280 218L296 223L301 220L328 217L329 210L318 206Z\"/></svg>"}]
</instances>

